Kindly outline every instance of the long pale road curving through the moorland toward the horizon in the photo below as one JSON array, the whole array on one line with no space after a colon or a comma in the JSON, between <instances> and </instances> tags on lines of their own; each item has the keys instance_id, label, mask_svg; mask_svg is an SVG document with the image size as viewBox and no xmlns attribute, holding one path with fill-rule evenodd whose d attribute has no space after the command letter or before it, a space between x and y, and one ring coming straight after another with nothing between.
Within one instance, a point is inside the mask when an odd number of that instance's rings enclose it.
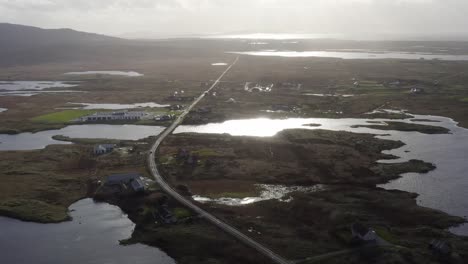
<instances>
[{"instance_id":1,"label":"long pale road curving through the moorland toward the horizon","mask_svg":"<svg viewBox=\"0 0 468 264\"><path fill-rule=\"evenodd\" d=\"M151 169L151 173L153 174L154 178L156 179L156 182L161 186L161 188L170 196L172 196L174 199L179 201L181 204L185 205L186 207L190 208L192 211L195 213L199 214L201 217L205 218L206 220L210 221L217 227L221 228L228 234L234 236L241 242L247 244L248 246L251 246L252 248L256 249L263 255L267 256L270 258L274 263L280 263L280 264L290 264L290 262L281 256L275 254L273 251L269 250L268 248L262 246L261 244L255 242L253 239L249 238L248 236L244 235L241 233L239 230L235 229L234 227L224 223L223 221L219 220L215 216L211 215L210 213L206 212L205 210L201 209L200 207L196 206L193 204L190 200L186 199L182 195L178 194L174 189L172 189L169 184L166 183L164 178L159 174L158 168L156 166L155 162L155 153L156 150L158 149L159 145L161 142L174 131L174 129L182 123L184 120L185 116L200 102L203 97L205 97L206 94L208 94L213 88L216 87L216 85L221 81L221 79L226 75L226 73L237 63L239 60L239 57L236 58L236 60L219 76L219 78L213 83L213 85L206 90L204 93L202 93L187 109L172 123L156 140L154 145L151 147L151 152L150 155L148 156L148 164Z\"/></svg>"}]
</instances>

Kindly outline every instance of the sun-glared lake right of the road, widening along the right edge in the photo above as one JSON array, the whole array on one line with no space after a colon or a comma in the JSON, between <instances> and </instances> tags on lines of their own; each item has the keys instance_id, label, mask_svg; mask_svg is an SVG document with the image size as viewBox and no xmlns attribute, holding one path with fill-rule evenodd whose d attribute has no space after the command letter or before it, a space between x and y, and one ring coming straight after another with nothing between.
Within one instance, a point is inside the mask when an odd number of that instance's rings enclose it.
<instances>
[{"instance_id":1,"label":"sun-glared lake right of the road, widening along the right edge","mask_svg":"<svg viewBox=\"0 0 468 264\"><path fill-rule=\"evenodd\" d=\"M468 130L458 127L452 119L445 117L414 115L414 118L433 122L411 121L410 119L405 119L403 122L442 126L450 129L451 134L426 135L418 132L352 128L354 125L369 124L369 121L385 122L391 120L327 118L230 120L223 123L199 126L180 126L174 133L228 133L234 136L269 137L284 129L303 128L371 133L382 139L401 140L406 144L405 146L386 152L400 158L381 162L403 162L410 159L420 159L434 163L437 169L427 174L405 174L402 178L381 187L415 192L420 195L417 202L422 206L439 209L461 217L468 216L468 176L466 175L468 171L468 152L466 151L468 149ZM434 123L434 121L437 121L437 123ZM321 126L305 126L307 124L320 124ZM468 225L463 225L452 231L468 235Z\"/></svg>"}]
</instances>

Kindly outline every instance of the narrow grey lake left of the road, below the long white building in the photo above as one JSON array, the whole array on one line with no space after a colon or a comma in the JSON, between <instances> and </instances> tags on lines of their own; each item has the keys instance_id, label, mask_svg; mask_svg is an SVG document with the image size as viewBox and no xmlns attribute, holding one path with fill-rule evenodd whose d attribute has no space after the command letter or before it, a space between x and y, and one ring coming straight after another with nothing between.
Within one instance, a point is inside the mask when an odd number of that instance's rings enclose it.
<instances>
[{"instance_id":1,"label":"narrow grey lake left of the road, below the long white building","mask_svg":"<svg viewBox=\"0 0 468 264\"><path fill-rule=\"evenodd\" d=\"M138 125L73 125L62 129L17 135L0 134L0 150L42 149L51 144L71 144L57 141L52 136L63 135L71 138L108 138L138 140L161 133L164 127Z\"/></svg>"}]
</instances>

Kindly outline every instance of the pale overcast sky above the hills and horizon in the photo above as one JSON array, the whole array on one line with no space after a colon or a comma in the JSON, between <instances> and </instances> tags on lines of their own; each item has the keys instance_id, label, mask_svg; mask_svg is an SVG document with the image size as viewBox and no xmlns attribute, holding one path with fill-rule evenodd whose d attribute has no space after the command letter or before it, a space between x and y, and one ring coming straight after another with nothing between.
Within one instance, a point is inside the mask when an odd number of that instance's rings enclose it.
<instances>
[{"instance_id":1,"label":"pale overcast sky above the hills and horizon","mask_svg":"<svg viewBox=\"0 0 468 264\"><path fill-rule=\"evenodd\" d=\"M468 31L468 0L0 0L0 22L134 37L445 35Z\"/></svg>"}]
</instances>

